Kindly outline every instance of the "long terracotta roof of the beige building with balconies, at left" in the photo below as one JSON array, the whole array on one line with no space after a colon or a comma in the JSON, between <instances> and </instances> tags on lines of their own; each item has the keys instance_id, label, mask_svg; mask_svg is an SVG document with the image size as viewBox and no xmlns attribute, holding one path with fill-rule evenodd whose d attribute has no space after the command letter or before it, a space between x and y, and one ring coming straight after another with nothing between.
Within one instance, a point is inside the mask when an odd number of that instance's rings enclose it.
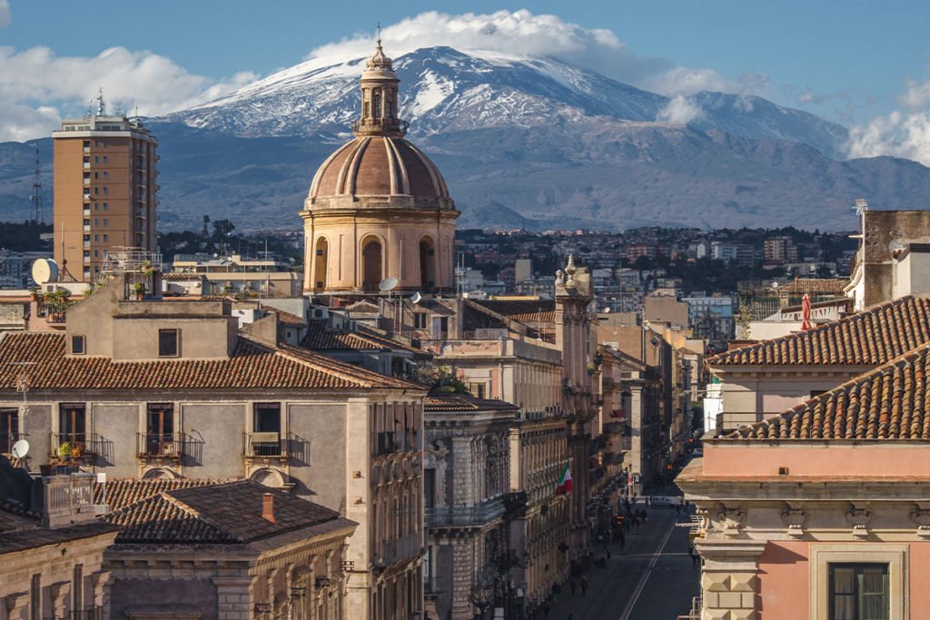
<instances>
[{"instance_id":1,"label":"long terracotta roof of the beige building with balconies, at left","mask_svg":"<svg viewBox=\"0 0 930 620\"><path fill-rule=\"evenodd\" d=\"M20 362L31 389L417 389L416 384L291 347L272 349L240 337L225 360L114 362L65 355L62 334L0 336L0 390L16 388Z\"/></svg>"}]
</instances>

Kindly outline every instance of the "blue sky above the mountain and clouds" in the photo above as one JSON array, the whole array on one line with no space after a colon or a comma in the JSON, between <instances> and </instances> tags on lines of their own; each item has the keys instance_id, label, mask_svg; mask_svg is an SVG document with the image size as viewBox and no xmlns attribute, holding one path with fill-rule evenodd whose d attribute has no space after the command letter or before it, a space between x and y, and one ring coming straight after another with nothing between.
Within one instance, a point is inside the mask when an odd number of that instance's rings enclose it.
<instances>
[{"instance_id":1,"label":"blue sky above the mountain and clouds","mask_svg":"<svg viewBox=\"0 0 930 620\"><path fill-rule=\"evenodd\" d=\"M67 112L70 90L23 76L54 75L43 67L61 59L73 59L69 70L80 72L90 66L81 59L97 59L107 48L125 48L118 58L107 59L107 66L115 74L126 71L124 82L131 90L144 89L145 76L161 81L165 90L174 89L175 99L168 92L141 98L154 112L166 112L296 64L319 46L372 33L378 20L390 25L425 11L459 15L518 9L557 16L588 33L610 31L622 43L623 54L643 61L640 65L655 61L702 72L713 78L706 83L710 86L745 90L861 126L864 135L871 131L885 141L889 132L917 131L904 139L920 142L930 126L930 2L916 0L160 0L144 5L125 0L0 0L0 109L3 104L9 108L11 101L19 110L0 112L0 124L21 127L6 135L0 130L0 139L24 139L33 127ZM128 63L125 69L121 62ZM593 68L609 70L609 59L602 55L599 62ZM156 71L152 65L159 63ZM63 64L56 66L60 70ZM159 73L167 70L168 78ZM618 70L615 76L628 74ZM667 81L647 77L640 75L637 86L678 92ZM80 88L75 84L71 90ZM907 115L910 125L895 113ZM914 119L913 114L921 116Z\"/></svg>"}]
</instances>

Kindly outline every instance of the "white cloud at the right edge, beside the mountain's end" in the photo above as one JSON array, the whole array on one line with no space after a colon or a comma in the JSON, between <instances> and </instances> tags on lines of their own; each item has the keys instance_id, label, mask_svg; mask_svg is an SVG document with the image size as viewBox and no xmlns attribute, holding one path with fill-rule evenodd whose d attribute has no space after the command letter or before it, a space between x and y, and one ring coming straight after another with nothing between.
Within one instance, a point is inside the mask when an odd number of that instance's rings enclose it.
<instances>
[{"instance_id":1,"label":"white cloud at the right edge, beside the mountain's end","mask_svg":"<svg viewBox=\"0 0 930 620\"><path fill-rule=\"evenodd\" d=\"M891 112L849 130L850 157L892 155L930 165L930 113Z\"/></svg>"}]
</instances>

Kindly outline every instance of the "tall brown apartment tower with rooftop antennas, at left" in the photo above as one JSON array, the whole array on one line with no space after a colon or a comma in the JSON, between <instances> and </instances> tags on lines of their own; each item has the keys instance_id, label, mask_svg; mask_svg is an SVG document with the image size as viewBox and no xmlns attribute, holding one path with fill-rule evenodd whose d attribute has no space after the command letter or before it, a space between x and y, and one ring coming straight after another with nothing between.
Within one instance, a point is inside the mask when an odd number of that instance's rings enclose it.
<instances>
[{"instance_id":1,"label":"tall brown apartment tower with rooftop antennas, at left","mask_svg":"<svg viewBox=\"0 0 930 620\"><path fill-rule=\"evenodd\" d=\"M115 247L155 251L158 140L140 121L67 119L55 143L55 260L63 279L96 282Z\"/></svg>"}]
</instances>

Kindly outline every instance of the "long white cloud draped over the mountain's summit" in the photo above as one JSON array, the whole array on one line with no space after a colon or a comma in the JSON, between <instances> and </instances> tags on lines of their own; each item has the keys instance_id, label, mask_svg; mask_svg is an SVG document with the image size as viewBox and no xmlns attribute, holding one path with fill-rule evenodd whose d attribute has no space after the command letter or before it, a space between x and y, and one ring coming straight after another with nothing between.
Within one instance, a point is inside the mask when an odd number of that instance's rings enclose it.
<instances>
[{"instance_id":1,"label":"long white cloud draped over the mountain's summit","mask_svg":"<svg viewBox=\"0 0 930 620\"><path fill-rule=\"evenodd\" d=\"M362 58L371 53L372 38L370 33L356 33L317 47L306 59ZM639 56L609 30L586 29L525 9L484 15L428 11L388 26L381 39L385 52L395 58L420 47L449 46L461 51L549 56L667 95L707 89L740 92L738 83L729 83L709 69L675 67L668 59Z\"/></svg>"}]
</instances>

